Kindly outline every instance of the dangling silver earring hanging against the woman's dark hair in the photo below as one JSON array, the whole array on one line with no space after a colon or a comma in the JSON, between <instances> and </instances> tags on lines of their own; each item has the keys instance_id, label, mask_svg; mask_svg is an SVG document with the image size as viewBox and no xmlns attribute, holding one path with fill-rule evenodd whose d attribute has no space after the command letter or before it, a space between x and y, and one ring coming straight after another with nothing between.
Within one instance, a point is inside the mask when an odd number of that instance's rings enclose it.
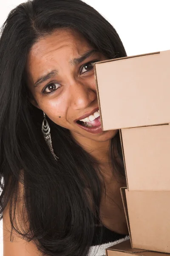
<instances>
[{"instance_id":1,"label":"dangling silver earring hanging against the woman's dark hair","mask_svg":"<svg viewBox=\"0 0 170 256\"><path fill-rule=\"evenodd\" d=\"M45 118L45 113L43 112L44 114L44 120L42 122L42 133L44 135L44 139L51 151L51 154L54 156L55 160L57 160L57 156L55 155L54 153L54 149L53 149L53 146L52 146L52 141L51 141L51 134L50 134L50 125L48 124L47 122L47 119ZM59 159L59 158L58 158Z\"/></svg>"}]
</instances>

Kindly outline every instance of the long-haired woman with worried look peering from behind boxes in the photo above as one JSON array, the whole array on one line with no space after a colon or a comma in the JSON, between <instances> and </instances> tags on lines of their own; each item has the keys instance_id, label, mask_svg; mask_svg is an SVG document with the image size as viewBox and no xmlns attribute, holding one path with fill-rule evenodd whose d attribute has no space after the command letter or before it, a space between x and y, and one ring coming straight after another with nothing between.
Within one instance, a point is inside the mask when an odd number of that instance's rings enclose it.
<instances>
[{"instance_id":1,"label":"long-haired woman with worried look peering from behind boxes","mask_svg":"<svg viewBox=\"0 0 170 256\"><path fill-rule=\"evenodd\" d=\"M119 133L101 129L93 69L123 56L113 26L80 0L28 1L8 15L0 38L4 256L101 256L129 239Z\"/></svg>"}]
</instances>

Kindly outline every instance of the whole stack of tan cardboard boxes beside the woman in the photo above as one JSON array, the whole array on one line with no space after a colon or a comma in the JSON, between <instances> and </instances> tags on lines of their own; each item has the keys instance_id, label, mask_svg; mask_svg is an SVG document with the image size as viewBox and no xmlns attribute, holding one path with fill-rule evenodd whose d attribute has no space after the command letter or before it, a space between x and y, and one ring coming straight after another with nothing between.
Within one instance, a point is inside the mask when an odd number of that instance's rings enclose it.
<instances>
[{"instance_id":1,"label":"whole stack of tan cardboard boxes beside the woman","mask_svg":"<svg viewBox=\"0 0 170 256\"><path fill-rule=\"evenodd\" d=\"M132 249L119 245L108 256L170 253L169 69L170 50L94 64L102 130L119 129L127 179L121 194Z\"/></svg>"}]
</instances>

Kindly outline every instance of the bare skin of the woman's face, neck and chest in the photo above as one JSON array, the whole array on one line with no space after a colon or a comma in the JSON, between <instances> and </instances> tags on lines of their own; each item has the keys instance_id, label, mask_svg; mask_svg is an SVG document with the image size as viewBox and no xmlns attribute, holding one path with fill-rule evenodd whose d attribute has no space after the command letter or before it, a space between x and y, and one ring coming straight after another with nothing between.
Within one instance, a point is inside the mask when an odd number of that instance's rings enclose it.
<instances>
[{"instance_id":1,"label":"bare skin of the woman's face, neck and chest","mask_svg":"<svg viewBox=\"0 0 170 256\"><path fill-rule=\"evenodd\" d=\"M125 234L128 231L119 189L126 185L123 181L113 179L108 160L110 140L118 131L91 134L74 123L75 119L98 107L93 63L88 66L85 64L106 60L106 56L95 52L81 63L73 63L74 58L79 58L91 49L88 41L72 29L58 29L41 38L28 55L28 87L34 98L30 100L57 125L69 129L75 140L99 161L104 170L107 191L107 197L103 195L101 202L103 222L111 230ZM58 73L34 87L40 76L52 70L58 70ZM49 83L53 83L52 87L45 89ZM45 95L43 90L54 93Z\"/></svg>"}]
</instances>

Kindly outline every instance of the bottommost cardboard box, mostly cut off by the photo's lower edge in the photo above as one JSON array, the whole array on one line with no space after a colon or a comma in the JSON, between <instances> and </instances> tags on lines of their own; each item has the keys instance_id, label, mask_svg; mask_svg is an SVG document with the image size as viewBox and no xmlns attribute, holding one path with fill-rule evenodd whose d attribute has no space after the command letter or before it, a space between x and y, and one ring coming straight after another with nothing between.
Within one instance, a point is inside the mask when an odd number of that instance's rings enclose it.
<instances>
[{"instance_id":1,"label":"bottommost cardboard box, mostly cut off by the photo's lower edge","mask_svg":"<svg viewBox=\"0 0 170 256\"><path fill-rule=\"evenodd\" d=\"M153 251L132 249L130 246L130 241L113 245L110 248L106 249L106 256L170 256L169 253L158 253Z\"/></svg>"}]
</instances>

